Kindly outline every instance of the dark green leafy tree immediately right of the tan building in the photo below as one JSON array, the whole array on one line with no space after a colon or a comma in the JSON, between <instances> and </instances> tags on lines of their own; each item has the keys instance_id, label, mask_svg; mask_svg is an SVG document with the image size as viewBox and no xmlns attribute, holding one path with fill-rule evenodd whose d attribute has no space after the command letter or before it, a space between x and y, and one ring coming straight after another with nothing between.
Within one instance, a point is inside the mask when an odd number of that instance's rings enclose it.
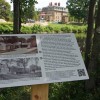
<instances>
[{"instance_id":1,"label":"dark green leafy tree immediately right of the tan building","mask_svg":"<svg viewBox=\"0 0 100 100\"><path fill-rule=\"evenodd\" d=\"M89 0L68 0L66 4L71 16L87 21Z\"/></svg>"}]
</instances>

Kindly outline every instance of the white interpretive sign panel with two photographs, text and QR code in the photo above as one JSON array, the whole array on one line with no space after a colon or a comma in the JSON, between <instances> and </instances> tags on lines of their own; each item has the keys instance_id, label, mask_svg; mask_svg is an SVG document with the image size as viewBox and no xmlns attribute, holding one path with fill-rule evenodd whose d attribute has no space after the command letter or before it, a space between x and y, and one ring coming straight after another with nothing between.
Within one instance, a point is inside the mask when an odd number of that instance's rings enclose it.
<instances>
[{"instance_id":1,"label":"white interpretive sign panel with two photographs, text and QR code","mask_svg":"<svg viewBox=\"0 0 100 100\"><path fill-rule=\"evenodd\" d=\"M0 88L88 78L72 33L0 35Z\"/></svg>"}]
</instances>

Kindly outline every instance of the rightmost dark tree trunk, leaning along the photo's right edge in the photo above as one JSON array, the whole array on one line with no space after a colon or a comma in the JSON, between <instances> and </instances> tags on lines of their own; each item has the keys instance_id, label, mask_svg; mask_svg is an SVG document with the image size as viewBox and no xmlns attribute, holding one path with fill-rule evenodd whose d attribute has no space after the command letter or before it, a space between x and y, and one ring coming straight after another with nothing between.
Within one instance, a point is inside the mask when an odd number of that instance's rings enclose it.
<instances>
[{"instance_id":1,"label":"rightmost dark tree trunk, leaning along the photo's right edge","mask_svg":"<svg viewBox=\"0 0 100 100\"><path fill-rule=\"evenodd\" d=\"M100 67L100 0L98 2L98 11L96 17L96 28L93 38L93 47L91 52L91 59L88 67L90 79L86 82L87 89L95 89L96 85L96 69Z\"/></svg>"}]
</instances>

